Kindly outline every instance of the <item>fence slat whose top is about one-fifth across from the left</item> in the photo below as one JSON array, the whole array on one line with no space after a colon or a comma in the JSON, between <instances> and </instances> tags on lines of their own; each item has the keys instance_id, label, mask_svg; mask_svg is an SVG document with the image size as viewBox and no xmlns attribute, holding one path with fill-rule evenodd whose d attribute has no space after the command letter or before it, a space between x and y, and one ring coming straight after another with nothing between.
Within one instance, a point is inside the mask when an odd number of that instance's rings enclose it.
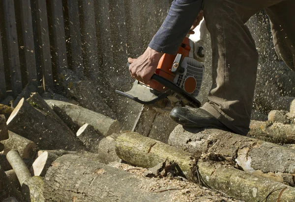
<instances>
[{"instance_id":1,"label":"fence slat whose top is about one-fifth across from the left","mask_svg":"<svg viewBox=\"0 0 295 202\"><path fill-rule=\"evenodd\" d=\"M52 14L52 26L53 26L53 41L54 51L56 56L56 65L58 73L61 66L67 66L66 46L65 46L65 34L64 34L64 22L62 13L62 1L50 0L51 14Z\"/></svg>"}]
</instances>

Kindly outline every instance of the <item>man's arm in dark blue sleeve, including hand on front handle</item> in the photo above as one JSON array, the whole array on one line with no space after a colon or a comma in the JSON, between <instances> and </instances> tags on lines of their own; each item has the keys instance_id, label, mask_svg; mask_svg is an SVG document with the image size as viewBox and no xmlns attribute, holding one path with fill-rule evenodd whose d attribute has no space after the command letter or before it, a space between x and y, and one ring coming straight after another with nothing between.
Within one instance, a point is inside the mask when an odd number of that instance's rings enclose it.
<instances>
[{"instance_id":1,"label":"man's arm in dark blue sleeve, including hand on front handle","mask_svg":"<svg viewBox=\"0 0 295 202\"><path fill-rule=\"evenodd\" d=\"M133 78L148 84L155 73L164 53L176 54L185 35L190 30L203 0L174 0L168 15L149 43L148 49L137 59L128 58L130 74Z\"/></svg>"}]
</instances>

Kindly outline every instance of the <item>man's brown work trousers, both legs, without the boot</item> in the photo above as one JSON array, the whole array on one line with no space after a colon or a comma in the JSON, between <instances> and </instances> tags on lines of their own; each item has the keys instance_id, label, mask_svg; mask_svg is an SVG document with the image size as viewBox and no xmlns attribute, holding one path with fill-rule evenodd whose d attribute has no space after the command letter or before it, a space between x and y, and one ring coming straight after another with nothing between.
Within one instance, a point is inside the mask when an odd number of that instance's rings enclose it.
<instances>
[{"instance_id":1,"label":"man's brown work trousers, both legs, without the boot","mask_svg":"<svg viewBox=\"0 0 295 202\"><path fill-rule=\"evenodd\" d=\"M245 23L266 9L275 50L295 70L295 0L203 0L202 7L211 35L213 63L213 84L202 108L236 133L246 135L258 53Z\"/></svg>"}]
</instances>

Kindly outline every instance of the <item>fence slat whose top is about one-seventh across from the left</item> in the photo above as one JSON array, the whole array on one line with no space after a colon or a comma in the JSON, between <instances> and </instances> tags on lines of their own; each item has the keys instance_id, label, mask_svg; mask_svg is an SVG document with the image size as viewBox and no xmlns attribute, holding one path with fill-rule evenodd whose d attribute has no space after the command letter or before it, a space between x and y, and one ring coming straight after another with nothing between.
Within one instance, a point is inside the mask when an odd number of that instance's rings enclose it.
<instances>
[{"instance_id":1,"label":"fence slat whose top is about one-seventh across from the left","mask_svg":"<svg viewBox=\"0 0 295 202\"><path fill-rule=\"evenodd\" d=\"M48 32L46 0L36 0L37 29L41 52L41 66L43 72L44 90L53 88L53 75L50 55L50 41Z\"/></svg>"}]
</instances>

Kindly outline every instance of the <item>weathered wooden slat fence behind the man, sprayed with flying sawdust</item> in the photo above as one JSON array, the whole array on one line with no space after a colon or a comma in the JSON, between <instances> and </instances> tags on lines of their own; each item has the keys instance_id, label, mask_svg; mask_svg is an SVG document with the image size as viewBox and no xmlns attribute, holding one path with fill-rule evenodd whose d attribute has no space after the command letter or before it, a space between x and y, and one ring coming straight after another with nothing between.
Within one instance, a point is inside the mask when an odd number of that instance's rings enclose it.
<instances>
[{"instance_id":1,"label":"weathered wooden slat fence behind the man, sprayed with flying sawdust","mask_svg":"<svg viewBox=\"0 0 295 202\"><path fill-rule=\"evenodd\" d=\"M0 100L27 84L54 89L61 66L97 82L126 75L171 1L1 0Z\"/></svg>"}]
</instances>

